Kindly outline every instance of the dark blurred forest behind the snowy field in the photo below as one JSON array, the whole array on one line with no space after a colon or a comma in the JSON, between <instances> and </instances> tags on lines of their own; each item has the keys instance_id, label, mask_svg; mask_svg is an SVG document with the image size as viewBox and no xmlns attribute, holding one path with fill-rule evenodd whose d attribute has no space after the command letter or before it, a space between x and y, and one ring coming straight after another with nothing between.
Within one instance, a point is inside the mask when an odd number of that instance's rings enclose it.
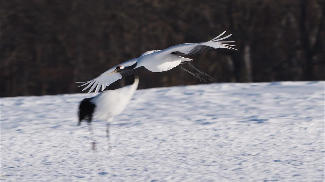
<instances>
[{"instance_id":1,"label":"dark blurred forest behind the snowy field","mask_svg":"<svg viewBox=\"0 0 325 182\"><path fill-rule=\"evenodd\" d=\"M324 0L0 2L0 97L80 93L76 81L224 30L239 51L192 58L212 82L325 80ZM178 68L139 77L139 89L204 83Z\"/></svg>"}]
</instances>

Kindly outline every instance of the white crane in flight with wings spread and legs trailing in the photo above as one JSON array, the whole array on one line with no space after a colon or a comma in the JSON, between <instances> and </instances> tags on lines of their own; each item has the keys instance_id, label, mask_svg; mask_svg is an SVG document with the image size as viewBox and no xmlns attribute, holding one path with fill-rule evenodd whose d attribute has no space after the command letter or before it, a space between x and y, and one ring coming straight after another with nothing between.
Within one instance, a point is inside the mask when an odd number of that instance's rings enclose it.
<instances>
[{"instance_id":1,"label":"white crane in flight with wings spread and legs trailing","mask_svg":"<svg viewBox=\"0 0 325 182\"><path fill-rule=\"evenodd\" d=\"M93 80L90 80L88 82L77 82L77 83L85 83L80 86L87 85L83 89L83 91L89 88L90 86L92 86L89 89L88 93L93 91L97 86L95 93L98 93L100 86L101 86L101 91L103 91L106 86L110 85L116 80L121 79L124 76L134 74L138 71L148 69L151 72L163 72L163 71L170 70L176 66L185 70L186 72L193 75L194 77L199 78L200 80L201 79L204 80L204 78L202 78L201 76L212 80L211 76L209 76L204 72L199 71L192 64L188 63L188 61L192 61L192 59L185 58L185 57L195 56L207 49L227 48L227 49L237 50L230 47L235 45L225 44L234 41L220 41L220 40L227 39L232 35L230 34L226 37L220 38L224 33L226 33L226 31L221 33L216 38L207 42L185 43L185 44L175 45L164 50L147 51L138 58L134 58L118 66L114 66L113 68L110 68L109 70L107 70L106 72L104 72L103 74L101 74L100 76L98 76ZM188 70L186 70L185 68L181 67L179 64L188 64L193 69L195 69L199 74L193 74Z\"/></svg>"}]
</instances>

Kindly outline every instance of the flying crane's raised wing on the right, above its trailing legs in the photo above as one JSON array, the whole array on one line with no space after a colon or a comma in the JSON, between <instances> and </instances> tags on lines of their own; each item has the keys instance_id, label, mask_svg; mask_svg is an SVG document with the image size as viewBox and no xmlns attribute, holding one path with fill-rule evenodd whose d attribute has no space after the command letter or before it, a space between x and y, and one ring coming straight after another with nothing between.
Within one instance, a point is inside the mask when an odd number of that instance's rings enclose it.
<instances>
[{"instance_id":1,"label":"flying crane's raised wing on the right, above its trailing legs","mask_svg":"<svg viewBox=\"0 0 325 182\"><path fill-rule=\"evenodd\" d=\"M234 41L220 41L220 40L227 39L228 37L230 37L232 35L232 34L230 34L226 37L219 38L225 33L226 33L226 31L224 31L218 37L216 37L210 41L207 41L207 42L179 44L179 45L175 45L175 46L169 47L167 49L164 49L162 51L159 51L157 53L159 55L161 55L162 57L166 56L168 54L171 54L171 53L178 54L179 56L183 56L183 57L192 57L192 56L195 56L195 55L197 55L205 50L208 50L208 49L226 48L226 49L231 49L231 50L237 50L237 49L231 47L231 46L235 46L235 45L225 44L225 43L234 42Z\"/></svg>"}]
</instances>

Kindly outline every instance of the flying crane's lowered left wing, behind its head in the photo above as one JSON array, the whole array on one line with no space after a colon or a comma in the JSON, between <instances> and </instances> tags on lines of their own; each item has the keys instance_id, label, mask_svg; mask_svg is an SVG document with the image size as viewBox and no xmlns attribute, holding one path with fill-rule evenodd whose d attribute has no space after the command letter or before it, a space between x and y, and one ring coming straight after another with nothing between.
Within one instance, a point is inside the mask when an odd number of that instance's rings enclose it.
<instances>
[{"instance_id":1,"label":"flying crane's lowered left wing, behind its head","mask_svg":"<svg viewBox=\"0 0 325 182\"><path fill-rule=\"evenodd\" d=\"M134 63L136 63L137 60L138 60L138 58L134 58L134 59L131 59L131 60L127 61L127 62L121 63L119 65L121 65L121 66L131 66ZM117 66L119 66L119 65L116 65L116 66L110 68L109 70L107 70L106 72L100 74L100 76L98 76L97 78L95 78L93 80L90 80L90 81L87 81L87 82L76 82L76 83L85 83L85 84L80 85L80 86L87 85L82 91L86 90L87 88L89 88L92 85L92 87L88 91L88 94L91 91L93 91L96 86L97 87L96 87L95 93L98 93L100 86L101 86L101 91L103 91L108 85L114 83L115 81L123 78L124 76L128 76L130 74L133 74L133 72L132 73L121 72L121 73L111 74L111 75L108 76L108 74L112 73L115 70L115 68ZM135 70L135 71L140 71L142 69L142 67L138 67L136 69L137 70ZM130 71L132 71L132 70L130 70Z\"/></svg>"}]
</instances>

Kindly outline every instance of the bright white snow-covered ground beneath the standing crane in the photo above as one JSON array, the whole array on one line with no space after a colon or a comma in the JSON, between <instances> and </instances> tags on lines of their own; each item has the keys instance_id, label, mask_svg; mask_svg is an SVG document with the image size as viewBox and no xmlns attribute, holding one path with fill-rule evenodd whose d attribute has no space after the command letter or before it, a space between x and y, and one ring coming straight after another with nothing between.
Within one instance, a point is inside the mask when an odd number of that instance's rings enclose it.
<instances>
[{"instance_id":1,"label":"bright white snow-covered ground beneath the standing crane","mask_svg":"<svg viewBox=\"0 0 325 182\"><path fill-rule=\"evenodd\" d=\"M140 79L141 82L141 79ZM2 181L324 181L325 82L137 90L110 127L91 94L0 99Z\"/></svg>"}]
</instances>

